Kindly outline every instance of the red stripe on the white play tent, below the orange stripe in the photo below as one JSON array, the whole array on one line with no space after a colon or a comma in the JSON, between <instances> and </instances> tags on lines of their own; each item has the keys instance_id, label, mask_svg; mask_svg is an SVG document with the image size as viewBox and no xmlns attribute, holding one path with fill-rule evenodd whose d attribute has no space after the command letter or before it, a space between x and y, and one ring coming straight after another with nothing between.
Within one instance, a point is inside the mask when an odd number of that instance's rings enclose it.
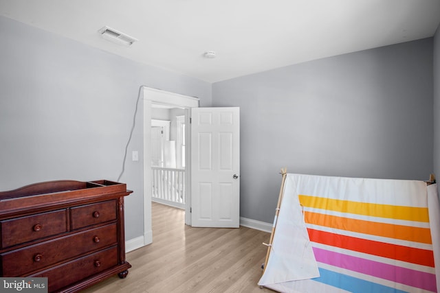
<instances>
[{"instance_id":1,"label":"red stripe on the white play tent, below the orange stripe","mask_svg":"<svg viewBox=\"0 0 440 293\"><path fill-rule=\"evenodd\" d=\"M348 250L416 263L421 266L430 266L434 268L434 254L432 250L421 248L412 248L373 240L350 237L346 235L334 234L325 231L318 231L307 228L311 242L317 242L329 246L336 246Z\"/></svg>"}]
</instances>

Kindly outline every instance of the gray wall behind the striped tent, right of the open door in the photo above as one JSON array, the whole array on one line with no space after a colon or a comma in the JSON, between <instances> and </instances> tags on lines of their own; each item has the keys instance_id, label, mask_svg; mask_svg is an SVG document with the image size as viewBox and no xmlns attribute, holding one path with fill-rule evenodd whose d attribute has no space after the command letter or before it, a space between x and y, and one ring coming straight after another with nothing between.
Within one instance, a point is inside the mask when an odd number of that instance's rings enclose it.
<instances>
[{"instance_id":1,"label":"gray wall behind the striped tent, right of the open door","mask_svg":"<svg viewBox=\"0 0 440 293\"><path fill-rule=\"evenodd\" d=\"M241 216L272 222L281 167L428 179L432 102L432 38L214 83L241 107Z\"/></svg>"}]
</instances>

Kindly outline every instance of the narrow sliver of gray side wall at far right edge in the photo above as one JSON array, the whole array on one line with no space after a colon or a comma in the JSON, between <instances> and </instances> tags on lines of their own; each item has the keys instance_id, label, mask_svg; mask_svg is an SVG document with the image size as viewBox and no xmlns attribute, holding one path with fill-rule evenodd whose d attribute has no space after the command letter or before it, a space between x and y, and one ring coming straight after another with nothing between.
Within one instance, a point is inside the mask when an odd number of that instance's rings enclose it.
<instances>
[{"instance_id":1,"label":"narrow sliver of gray side wall at far right edge","mask_svg":"<svg viewBox=\"0 0 440 293\"><path fill-rule=\"evenodd\" d=\"M440 26L434 35L434 173L440 182Z\"/></svg>"}]
</instances>

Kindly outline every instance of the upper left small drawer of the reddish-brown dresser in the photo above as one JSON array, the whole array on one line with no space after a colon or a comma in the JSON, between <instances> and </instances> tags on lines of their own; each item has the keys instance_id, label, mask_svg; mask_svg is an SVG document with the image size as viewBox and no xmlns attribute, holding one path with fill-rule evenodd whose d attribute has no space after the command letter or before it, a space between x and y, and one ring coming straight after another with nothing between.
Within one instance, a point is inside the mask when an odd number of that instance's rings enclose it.
<instances>
[{"instance_id":1,"label":"upper left small drawer of the reddish-brown dresser","mask_svg":"<svg viewBox=\"0 0 440 293\"><path fill-rule=\"evenodd\" d=\"M1 223L1 247L29 242L35 239L57 235L67 231L67 211L65 209L39 213Z\"/></svg>"}]
</instances>

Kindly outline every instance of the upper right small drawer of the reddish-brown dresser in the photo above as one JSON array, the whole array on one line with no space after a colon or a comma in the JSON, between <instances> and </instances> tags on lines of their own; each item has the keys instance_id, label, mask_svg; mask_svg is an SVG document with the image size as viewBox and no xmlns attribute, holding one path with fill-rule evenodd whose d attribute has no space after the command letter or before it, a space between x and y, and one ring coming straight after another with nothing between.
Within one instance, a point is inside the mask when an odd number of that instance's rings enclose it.
<instances>
[{"instance_id":1,"label":"upper right small drawer of the reddish-brown dresser","mask_svg":"<svg viewBox=\"0 0 440 293\"><path fill-rule=\"evenodd\" d=\"M116 200L74 207L70 212L72 230L116 220Z\"/></svg>"}]
</instances>

